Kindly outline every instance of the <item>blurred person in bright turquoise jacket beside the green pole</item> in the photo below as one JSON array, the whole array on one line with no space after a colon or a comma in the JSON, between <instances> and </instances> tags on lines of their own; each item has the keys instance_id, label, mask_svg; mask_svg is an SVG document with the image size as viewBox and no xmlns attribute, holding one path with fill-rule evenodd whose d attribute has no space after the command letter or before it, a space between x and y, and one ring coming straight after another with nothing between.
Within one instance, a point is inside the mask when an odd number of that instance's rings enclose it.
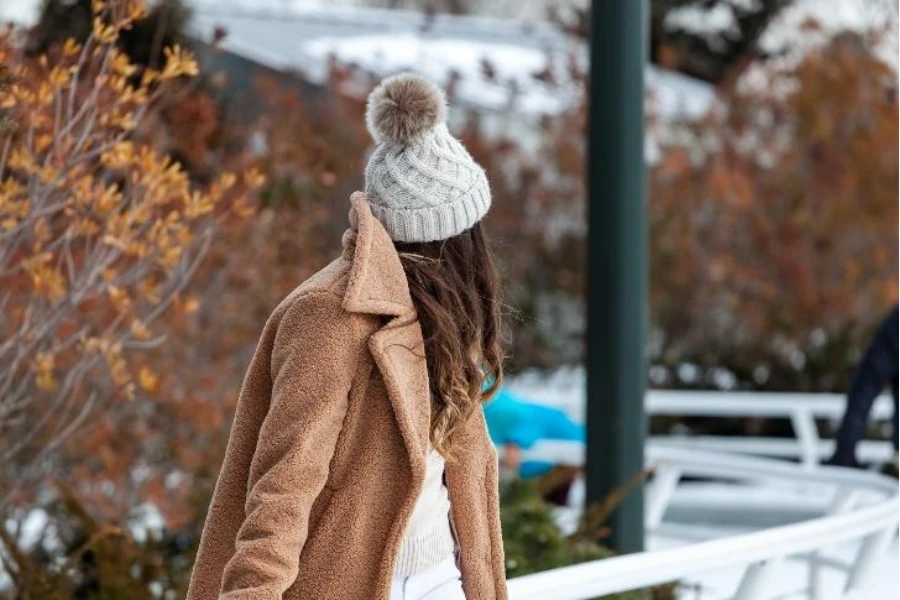
<instances>
[{"instance_id":1,"label":"blurred person in bright turquoise jacket beside the green pole","mask_svg":"<svg viewBox=\"0 0 900 600\"><path fill-rule=\"evenodd\" d=\"M531 448L539 440L585 441L584 425L573 421L565 412L552 406L526 402L516 397L506 388L484 404L484 417L487 421L488 434L491 440L503 447L503 466L516 472L523 479L541 477L552 471L555 465L540 460L522 460L522 450ZM551 490L548 500L558 504L565 503L571 478L575 469L561 489Z\"/></svg>"}]
</instances>

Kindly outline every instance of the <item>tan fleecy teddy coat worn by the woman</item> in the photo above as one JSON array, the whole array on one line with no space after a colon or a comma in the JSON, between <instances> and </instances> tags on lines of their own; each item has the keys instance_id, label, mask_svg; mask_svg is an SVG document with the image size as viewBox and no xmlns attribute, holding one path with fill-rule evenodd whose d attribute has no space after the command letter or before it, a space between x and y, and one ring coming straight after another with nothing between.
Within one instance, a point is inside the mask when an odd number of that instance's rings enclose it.
<instances>
[{"instance_id":1,"label":"tan fleecy teddy coat worn by the woman","mask_svg":"<svg viewBox=\"0 0 900 600\"><path fill-rule=\"evenodd\" d=\"M425 475L422 331L393 242L351 197L343 254L266 322L238 400L189 600L387 600ZM468 600L506 598L497 454L482 411L446 465Z\"/></svg>"}]
</instances>

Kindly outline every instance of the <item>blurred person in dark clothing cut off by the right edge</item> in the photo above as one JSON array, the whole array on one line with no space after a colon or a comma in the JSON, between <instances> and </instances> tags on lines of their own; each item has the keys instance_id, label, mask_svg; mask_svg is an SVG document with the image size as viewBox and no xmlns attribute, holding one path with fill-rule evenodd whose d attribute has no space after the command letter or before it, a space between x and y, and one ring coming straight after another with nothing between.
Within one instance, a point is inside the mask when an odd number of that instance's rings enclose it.
<instances>
[{"instance_id":1,"label":"blurred person in dark clothing cut off by the right edge","mask_svg":"<svg viewBox=\"0 0 900 600\"><path fill-rule=\"evenodd\" d=\"M847 408L838 427L834 455L827 464L843 467L860 467L856 460L856 445L865 436L869 422L869 412L875 398L890 386L894 396L894 431L891 441L894 444L894 463L897 458L897 415L900 395L897 391L897 328L898 307L887 315L866 353L856 368L856 374L847 394Z\"/></svg>"}]
</instances>

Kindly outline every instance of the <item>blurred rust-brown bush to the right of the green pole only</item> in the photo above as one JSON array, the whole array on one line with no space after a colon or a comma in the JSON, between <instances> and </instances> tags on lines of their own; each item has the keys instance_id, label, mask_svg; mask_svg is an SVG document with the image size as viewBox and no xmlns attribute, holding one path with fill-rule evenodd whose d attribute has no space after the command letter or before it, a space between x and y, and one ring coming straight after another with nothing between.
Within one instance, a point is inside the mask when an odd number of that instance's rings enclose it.
<instances>
[{"instance_id":1,"label":"blurred rust-brown bush to the right of the green pole only","mask_svg":"<svg viewBox=\"0 0 900 600\"><path fill-rule=\"evenodd\" d=\"M897 300L897 109L896 73L846 34L729 82L683 128L650 172L653 352L670 383L693 361L742 387L846 389Z\"/></svg>"}]
</instances>

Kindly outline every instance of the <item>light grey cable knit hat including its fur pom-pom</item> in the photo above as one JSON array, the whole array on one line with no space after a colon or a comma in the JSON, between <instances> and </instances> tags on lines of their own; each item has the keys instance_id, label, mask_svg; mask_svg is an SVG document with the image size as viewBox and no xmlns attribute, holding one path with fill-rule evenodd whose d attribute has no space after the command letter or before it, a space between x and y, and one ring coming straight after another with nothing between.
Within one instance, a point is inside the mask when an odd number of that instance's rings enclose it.
<instances>
[{"instance_id":1,"label":"light grey cable knit hat including its fur pom-pom","mask_svg":"<svg viewBox=\"0 0 900 600\"><path fill-rule=\"evenodd\" d=\"M366 125L378 145L365 191L395 241L453 237L491 204L484 170L447 130L446 102L440 88L412 73L388 77L369 95Z\"/></svg>"}]
</instances>

